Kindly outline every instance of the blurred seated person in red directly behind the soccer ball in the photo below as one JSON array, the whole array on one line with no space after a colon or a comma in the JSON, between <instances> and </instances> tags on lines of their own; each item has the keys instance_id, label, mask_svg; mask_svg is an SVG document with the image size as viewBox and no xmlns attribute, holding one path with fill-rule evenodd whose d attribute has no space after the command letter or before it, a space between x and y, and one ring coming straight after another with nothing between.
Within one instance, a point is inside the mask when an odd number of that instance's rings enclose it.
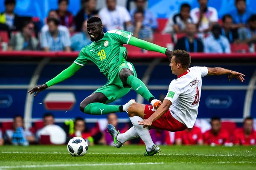
<instances>
[{"instance_id":1,"label":"blurred seated person in red directly behind the soccer ball","mask_svg":"<svg viewBox=\"0 0 256 170\"><path fill-rule=\"evenodd\" d=\"M77 117L74 122L74 133L70 137L80 136L87 141L88 144L93 145L93 137L91 136L90 131L86 127L84 119Z\"/></svg>"}]
</instances>

